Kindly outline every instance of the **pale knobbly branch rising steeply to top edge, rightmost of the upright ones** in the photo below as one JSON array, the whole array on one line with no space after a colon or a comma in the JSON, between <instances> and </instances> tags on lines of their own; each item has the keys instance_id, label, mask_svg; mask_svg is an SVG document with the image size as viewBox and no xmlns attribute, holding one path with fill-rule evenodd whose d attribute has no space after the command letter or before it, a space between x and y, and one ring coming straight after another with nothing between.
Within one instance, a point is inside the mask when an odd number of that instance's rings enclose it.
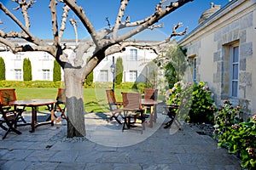
<instances>
[{"instance_id":1,"label":"pale knobbly branch rising steeply to top edge, rightmost of the upright ones","mask_svg":"<svg viewBox=\"0 0 256 170\"><path fill-rule=\"evenodd\" d=\"M119 26L122 22L122 18L124 17L125 8L127 7L128 3L129 3L129 0L121 0L119 14L116 17L115 24L113 27L113 40L115 40L115 38L117 37L117 32L118 32Z\"/></svg>"}]
</instances>

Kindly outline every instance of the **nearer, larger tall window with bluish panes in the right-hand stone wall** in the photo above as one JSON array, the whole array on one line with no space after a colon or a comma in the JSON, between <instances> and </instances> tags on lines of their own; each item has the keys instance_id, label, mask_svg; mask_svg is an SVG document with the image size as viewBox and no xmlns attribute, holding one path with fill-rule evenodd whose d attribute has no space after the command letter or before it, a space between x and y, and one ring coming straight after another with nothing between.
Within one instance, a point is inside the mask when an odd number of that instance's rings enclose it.
<instances>
[{"instance_id":1,"label":"nearer, larger tall window with bluish panes in the right-hand stone wall","mask_svg":"<svg viewBox=\"0 0 256 170\"><path fill-rule=\"evenodd\" d=\"M231 47L230 55L230 95L238 97L239 47Z\"/></svg>"}]
</instances>

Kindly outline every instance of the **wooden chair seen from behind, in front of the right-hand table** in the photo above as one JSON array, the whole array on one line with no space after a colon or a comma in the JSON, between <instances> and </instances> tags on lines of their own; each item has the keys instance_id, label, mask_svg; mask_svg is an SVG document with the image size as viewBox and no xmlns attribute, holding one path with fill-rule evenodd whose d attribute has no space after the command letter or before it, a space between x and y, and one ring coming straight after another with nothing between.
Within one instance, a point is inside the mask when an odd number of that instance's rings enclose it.
<instances>
[{"instance_id":1,"label":"wooden chair seen from behind, in front of the right-hand table","mask_svg":"<svg viewBox=\"0 0 256 170\"><path fill-rule=\"evenodd\" d=\"M124 125L123 125L123 131L125 130L125 126L127 129L130 129L131 127L137 127L132 126L132 124L136 123L137 120L140 121L142 124L143 130L145 129L145 114L144 114L144 108L142 107L142 95L138 93L122 93L123 97L123 119L124 119ZM131 119L133 119L133 122L131 122Z\"/></svg>"}]
</instances>

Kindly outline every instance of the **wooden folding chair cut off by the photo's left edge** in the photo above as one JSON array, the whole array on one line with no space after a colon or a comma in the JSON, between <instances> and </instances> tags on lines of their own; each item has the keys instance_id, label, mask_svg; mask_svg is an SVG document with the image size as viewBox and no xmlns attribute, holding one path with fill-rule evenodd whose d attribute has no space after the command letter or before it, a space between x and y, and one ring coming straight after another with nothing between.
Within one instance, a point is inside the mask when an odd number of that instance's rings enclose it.
<instances>
[{"instance_id":1,"label":"wooden folding chair cut off by the photo's left edge","mask_svg":"<svg viewBox=\"0 0 256 170\"><path fill-rule=\"evenodd\" d=\"M23 116L21 116L24 109L14 108L11 110L11 106L9 105L10 101L16 100L15 88L3 88L0 89L0 114L2 118L0 120L0 127L6 131L3 135L3 139L6 138L7 134L11 131L21 134L20 131L16 129L17 126L27 125ZM24 122L24 124L18 124L18 122ZM6 124L5 127L3 124Z\"/></svg>"}]
</instances>

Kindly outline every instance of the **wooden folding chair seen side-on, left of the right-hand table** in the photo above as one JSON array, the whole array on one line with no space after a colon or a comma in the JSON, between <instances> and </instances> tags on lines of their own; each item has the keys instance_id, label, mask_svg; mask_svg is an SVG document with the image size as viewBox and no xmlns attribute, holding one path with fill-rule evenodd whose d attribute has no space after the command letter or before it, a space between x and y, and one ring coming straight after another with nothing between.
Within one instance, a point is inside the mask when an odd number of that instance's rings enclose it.
<instances>
[{"instance_id":1,"label":"wooden folding chair seen side-on, left of the right-hand table","mask_svg":"<svg viewBox=\"0 0 256 170\"><path fill-rule=\"evenodd\" d=\"M106 94L107 94L109 109L112 114L112 116L110 116L110 118L108 119L108 122L111 122L113 119L115 119L116 122L118 122L119 124L122 124L122 122L119 121L118 117L123 111L120 108L123 105L123 103L116 101L113 89L107 89Z\"/></svg>"}]
</instances>

